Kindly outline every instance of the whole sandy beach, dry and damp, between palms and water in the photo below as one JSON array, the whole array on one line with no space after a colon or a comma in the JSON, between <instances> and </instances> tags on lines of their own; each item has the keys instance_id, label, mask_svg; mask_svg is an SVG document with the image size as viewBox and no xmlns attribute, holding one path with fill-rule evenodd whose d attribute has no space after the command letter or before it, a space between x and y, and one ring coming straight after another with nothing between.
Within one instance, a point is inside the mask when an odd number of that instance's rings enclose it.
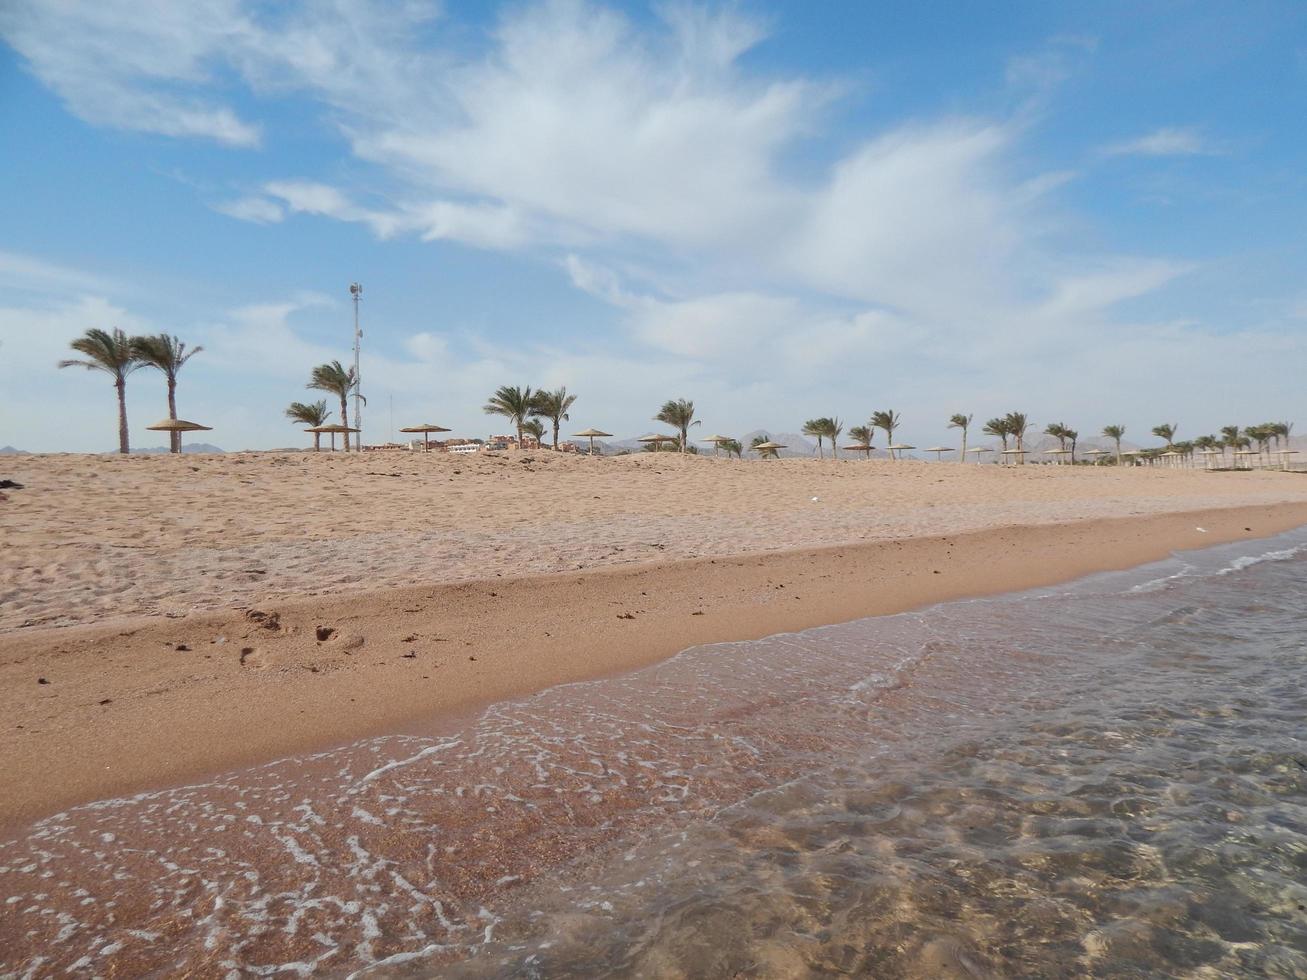
<instances>
[{"instance_id":1,"label":"whole sandy beach, dry and damp, between palms and water","mask_svg":"<svg viewBox=\"0 0 1307 980\"><path fill-rule=\"evenodd\" d=\"M1307 480L1260 472L549 452L8 466L26 485L0 503L9 823L697 643L1307 523Z\"/></svg>"}]
</instances>

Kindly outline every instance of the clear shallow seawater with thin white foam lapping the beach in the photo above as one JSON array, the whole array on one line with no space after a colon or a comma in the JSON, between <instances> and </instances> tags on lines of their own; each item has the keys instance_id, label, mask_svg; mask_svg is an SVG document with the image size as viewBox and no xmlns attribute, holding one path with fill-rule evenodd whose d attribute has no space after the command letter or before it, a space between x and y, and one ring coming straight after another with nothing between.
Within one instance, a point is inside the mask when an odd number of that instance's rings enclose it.
<instances>
[{"instance_id":1,"label":"clear shallow seawater with thin white foam lapping the beach","mask_svg":"<svg viewBox=\"0 0 1307 980\"><path fill-rule=\"evenodd\" d=\"M874 584L873 584L874 585ZM1307 976L1307 529L0 844L0 973Z\"/></svg>"}]
</instances>

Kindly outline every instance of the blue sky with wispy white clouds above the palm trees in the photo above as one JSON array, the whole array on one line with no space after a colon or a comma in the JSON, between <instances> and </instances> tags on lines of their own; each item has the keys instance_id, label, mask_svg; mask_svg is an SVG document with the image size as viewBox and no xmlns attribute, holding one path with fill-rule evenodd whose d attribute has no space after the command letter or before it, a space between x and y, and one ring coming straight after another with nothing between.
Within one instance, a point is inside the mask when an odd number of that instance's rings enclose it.
<instances>
[{"instance_id":1,"label":"blue sky with wispy white clouds above the palm trees","mask_svg":"<svg viewBox=\"0 0 1307 980\"><path fill-rule=\"evenodd\" d=\"M0 446L116 446L85 329L203 345L179 414L307 444L1025 412L1307 427L1307 4L0 5ZM128 382L133 446L163 379ZM393 422L392 422L393 419ZM944 442L944 444L951 444Z\"/></svg>"}]
</instances>

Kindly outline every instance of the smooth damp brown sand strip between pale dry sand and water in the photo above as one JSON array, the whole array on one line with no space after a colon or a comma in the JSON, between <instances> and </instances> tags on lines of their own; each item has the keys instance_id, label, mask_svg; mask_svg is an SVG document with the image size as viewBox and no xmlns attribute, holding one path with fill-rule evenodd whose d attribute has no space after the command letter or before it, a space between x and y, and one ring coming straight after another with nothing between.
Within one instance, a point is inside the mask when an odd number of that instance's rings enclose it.
<instances>
[{"instance_id":1,"label":"smooth damp brown sand strip between pale dry sand and water","mask_svg":"<svg viewBox=\"0 0 1307 980\"><path fill-rule=\"evenodd\" d=\"M689 647L1052 585L1303 524L1307 503L1006 525L8 634L0 828L431 732Z\"/></svg>"}]
</instances>

